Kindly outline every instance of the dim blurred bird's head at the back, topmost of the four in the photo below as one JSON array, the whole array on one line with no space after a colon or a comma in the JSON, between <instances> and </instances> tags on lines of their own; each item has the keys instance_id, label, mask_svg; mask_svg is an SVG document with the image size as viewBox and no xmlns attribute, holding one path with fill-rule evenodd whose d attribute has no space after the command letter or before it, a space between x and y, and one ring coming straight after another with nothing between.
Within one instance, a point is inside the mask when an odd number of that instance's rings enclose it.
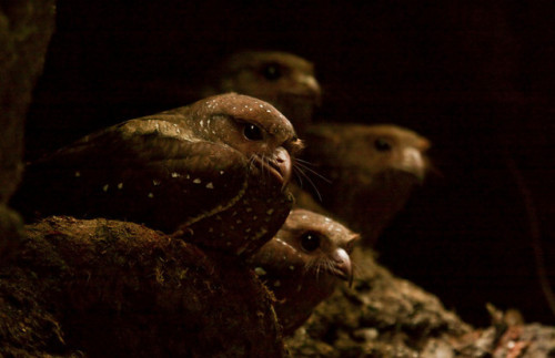
<instances>
[{"instance_id":1,"label":"dim blurred bird's head at the back, topmost of the four","mask_svg":"<svg viewBox=\"0 0 555 358\"><path fill-rule=\"evenodd\" d=\"M239 92L272 103L302 135L320 105L321 89L314 65L278 51L238 52L210 75L203 95Z\"/></svg>"}]
</instances>

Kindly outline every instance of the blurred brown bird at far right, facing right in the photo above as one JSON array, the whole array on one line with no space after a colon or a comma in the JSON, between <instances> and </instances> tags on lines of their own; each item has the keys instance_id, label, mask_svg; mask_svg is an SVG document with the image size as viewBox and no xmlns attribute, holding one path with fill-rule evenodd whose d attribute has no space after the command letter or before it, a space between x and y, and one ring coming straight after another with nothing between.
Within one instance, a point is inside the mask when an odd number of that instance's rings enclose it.
<instances>
[{"instance_id":1,"label":"blurred brown bird at far right, facing right","mask_svg":"<svg viewBox=\"0 0 555 358\"><path fill-rule=\"evenodd\" d=\"M331 181L317 185L322 206L365 243L376 241L430 167L430 142L396 125L322 123L311 126L305 140L303 157ZM307 200L297 205L314 207Z\"/></svg>"}]
</instances>

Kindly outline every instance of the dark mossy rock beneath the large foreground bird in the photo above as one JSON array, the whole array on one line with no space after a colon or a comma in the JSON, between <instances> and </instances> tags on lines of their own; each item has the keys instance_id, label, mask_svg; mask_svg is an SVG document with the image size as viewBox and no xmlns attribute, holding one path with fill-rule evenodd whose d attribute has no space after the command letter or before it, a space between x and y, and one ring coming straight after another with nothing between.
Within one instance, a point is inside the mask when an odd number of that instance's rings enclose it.
<instances>
[{"instance_id":1,"label":"dark mossy rock beneath the large foreground bird","mask_svg":"<svg viewBox=\"0 0 555 358\"><path fill-rule=\"evenodd\" d=\"M272 298L246 266L137 224L30 225L0 277L0 355L283 355Z\"/></svg>"}]
</instances>

